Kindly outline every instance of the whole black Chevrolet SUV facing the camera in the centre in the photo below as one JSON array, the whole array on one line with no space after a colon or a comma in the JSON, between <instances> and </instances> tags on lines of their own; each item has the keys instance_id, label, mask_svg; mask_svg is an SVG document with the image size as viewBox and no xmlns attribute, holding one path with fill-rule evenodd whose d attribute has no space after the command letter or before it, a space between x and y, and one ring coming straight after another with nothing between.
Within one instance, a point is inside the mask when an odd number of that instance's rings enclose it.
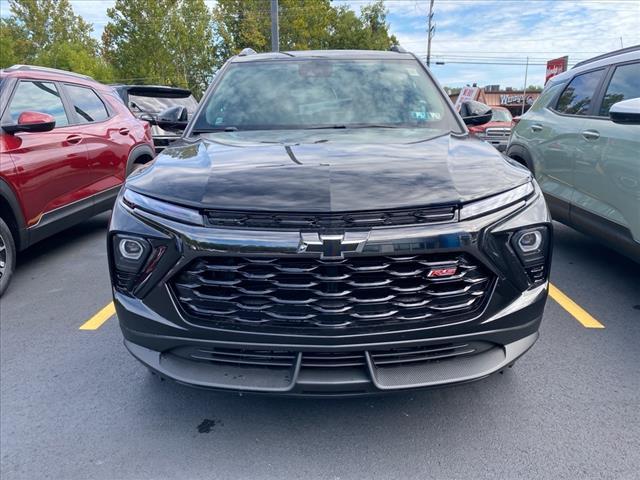
<instances>
[{"instance_id":1,"label":"whole black Chevrolet SUV facing the camera in the centre","mask_svg":"<svg viewBox=\"0 0 640 480\"><path fill-rule=\"evenodd\" d=\"M129 351L180 383L355 395L466 382L538 337L531 174L403 51L230 59L108 237Z\"/></svg>"}]
</instances>

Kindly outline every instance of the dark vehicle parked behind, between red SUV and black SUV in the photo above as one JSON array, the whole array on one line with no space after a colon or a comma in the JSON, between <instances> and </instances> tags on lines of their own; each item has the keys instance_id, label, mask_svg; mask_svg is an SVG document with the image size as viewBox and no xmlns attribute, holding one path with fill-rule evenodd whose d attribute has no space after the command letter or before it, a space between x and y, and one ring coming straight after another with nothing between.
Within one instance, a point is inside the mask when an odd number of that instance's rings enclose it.
<instances>
[{"instance_id":1,"label":"dark vehicle parked behind, between red SUV and black SUV","mask_svg":"<svg viewBox=\"0 0 640 480\"><path fill-rule=\"evenodd\" d=\"M158 119L165 112L177 115L186 123L198 108L198 101L186 88L157 85L112 85L122 101L135 116L151 123L156 152L164 150L181 135L180 128L163 129Z\"/></svg>"}]
</instances>

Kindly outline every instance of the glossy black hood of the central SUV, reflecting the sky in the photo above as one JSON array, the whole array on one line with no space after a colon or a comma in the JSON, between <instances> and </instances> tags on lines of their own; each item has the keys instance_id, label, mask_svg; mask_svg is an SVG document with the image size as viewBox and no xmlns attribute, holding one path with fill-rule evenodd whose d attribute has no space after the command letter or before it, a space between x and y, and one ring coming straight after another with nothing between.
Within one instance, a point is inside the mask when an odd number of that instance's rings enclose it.
<instances>
[{"instance_id":1,"label":"glossy black hood of the central SUV, reflecting the sky","mask_svg":"<svg viewBox=\"0 0 640 480\"><path fill-rule=\"evenodd\" d=\"M169 148L127 181L139 193L197 208L342 212L457 204L530 174L474 138L412 144L222 144Z\"/></svg>"}]
</instances>

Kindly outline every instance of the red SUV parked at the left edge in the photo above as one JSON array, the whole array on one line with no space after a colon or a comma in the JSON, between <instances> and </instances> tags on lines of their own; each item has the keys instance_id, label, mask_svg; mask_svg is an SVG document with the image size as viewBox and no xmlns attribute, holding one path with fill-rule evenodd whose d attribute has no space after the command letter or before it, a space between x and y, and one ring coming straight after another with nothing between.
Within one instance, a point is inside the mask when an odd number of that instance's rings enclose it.
<instances>
[{"instance_id":1,"label":"red SUV parked at the left edge","mask_svg":"<svg viewBox=\"0 0 640 480\"><path fill-rule=\"evenodd\" d=\"M62 70L0 70L0 295L16 251L111 208L155 155L111 87Z\"/></svg>"}]
</instances>

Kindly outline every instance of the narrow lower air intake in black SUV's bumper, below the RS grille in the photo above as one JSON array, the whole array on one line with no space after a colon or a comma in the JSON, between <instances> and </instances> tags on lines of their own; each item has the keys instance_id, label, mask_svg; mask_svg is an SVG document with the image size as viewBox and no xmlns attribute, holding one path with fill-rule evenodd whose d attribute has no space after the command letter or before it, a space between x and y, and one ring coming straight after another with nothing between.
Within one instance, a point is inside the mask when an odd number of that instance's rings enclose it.
<instances>
[{"instance_id":1,"label":"narrow lower air intake in black SUV's bumper, below the RS grille","mask_svg":"<svg viewBox=\"0 0 640 480\"><path fill-rule=\"evenodd\" d=\"M370 350L375 368L443 361L474 355L491 348L487 342L444 343L418 347ZM236 367L293 368L299 352L268 349L232 349L218 347L178 347L173 355L197 362ZM365 351L302 352L300 367L305 369L335 369L366 367Z\"/></svg>"}]
</instances>

